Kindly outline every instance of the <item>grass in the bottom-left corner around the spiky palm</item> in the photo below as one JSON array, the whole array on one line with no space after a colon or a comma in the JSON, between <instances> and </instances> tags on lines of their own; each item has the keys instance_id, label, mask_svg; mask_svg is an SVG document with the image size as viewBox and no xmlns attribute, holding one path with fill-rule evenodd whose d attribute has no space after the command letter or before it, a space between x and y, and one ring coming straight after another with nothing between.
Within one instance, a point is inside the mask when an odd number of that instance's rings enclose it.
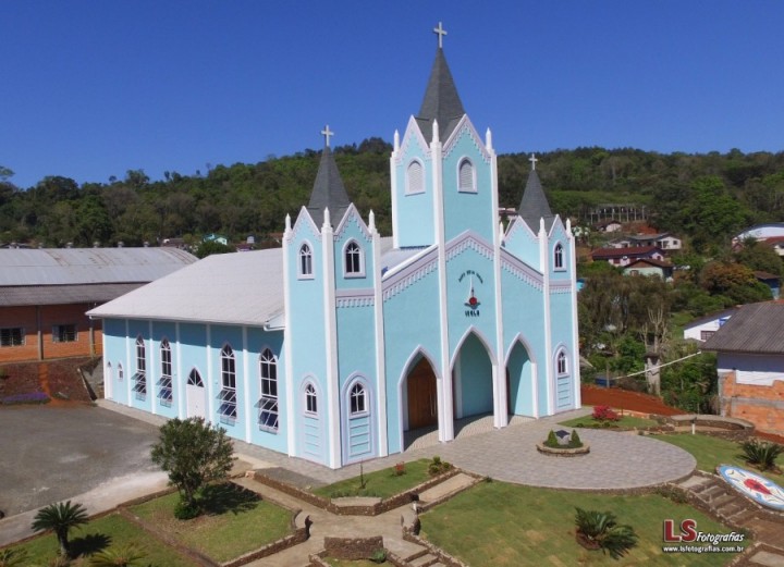
<instances>
[{"instance_id":1,"label":"grass in the bottom-left corner around the spiky palm","mask_svg":"<svg viewBox=\"0 0 784 567\"><path fill-rule=\"evenodd\" d=\"M167 567L193 567L197 564L180 555L166 543L118 514L103 516L89 521L84 528L71 532L71 547L76 559L71 567L87 567L89 556L120 545L134 544L145 553L144 565L166 565ZM27 551L25 565L48 565L57 555L58 543L54 534L47 533L12 548Z\"/></svg>"}]
</instances>

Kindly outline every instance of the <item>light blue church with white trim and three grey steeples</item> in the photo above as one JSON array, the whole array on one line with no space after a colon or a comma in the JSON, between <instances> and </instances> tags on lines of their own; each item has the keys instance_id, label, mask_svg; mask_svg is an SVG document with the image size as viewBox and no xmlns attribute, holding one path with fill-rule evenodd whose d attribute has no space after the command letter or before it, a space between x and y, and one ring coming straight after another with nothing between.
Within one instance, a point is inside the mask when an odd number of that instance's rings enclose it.
<instances>
[{"instance_id":1,"label":"light blue church with white trim and three grey steeples","mask_svg":"<svg viewBox=\"0 0 784 567\"><path fill-rule=\"evenodd\" d=\"M531 159L504 227L490 131L436 33L421 109L394 135L393 235L350 201L327 127L282 248L210 256L89 311L107 398L331 468L400 453L409 431L452 441L469 416L504 428L580 406L569 222Z\"/></svg>"}]
</instances>

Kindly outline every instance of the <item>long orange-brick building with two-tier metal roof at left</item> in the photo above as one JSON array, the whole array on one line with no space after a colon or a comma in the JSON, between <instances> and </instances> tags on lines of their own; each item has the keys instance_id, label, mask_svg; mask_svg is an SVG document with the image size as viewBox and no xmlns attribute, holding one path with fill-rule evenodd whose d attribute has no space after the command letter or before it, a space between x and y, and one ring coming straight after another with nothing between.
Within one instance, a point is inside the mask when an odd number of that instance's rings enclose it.
<instances>
[{"instance_id":1,"label":"long orange-brick building with two-tier metal roof at left","mask_svg":"<svg viewBox=\"0 0 784 567\"><path fill-rule=\"evenodd\" d=\"M0 363L100 355L88 309L195 261L176 248L0 249Z\"/></svg>"}]
</instances>

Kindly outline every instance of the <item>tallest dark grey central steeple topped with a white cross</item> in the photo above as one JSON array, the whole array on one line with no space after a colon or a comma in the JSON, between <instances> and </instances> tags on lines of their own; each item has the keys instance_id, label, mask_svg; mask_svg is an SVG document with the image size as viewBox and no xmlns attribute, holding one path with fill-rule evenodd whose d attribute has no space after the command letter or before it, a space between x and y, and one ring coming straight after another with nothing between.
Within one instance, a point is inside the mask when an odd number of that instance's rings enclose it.
<instances>
[{"instance_id":1,"label":"tallest dark grey central steeple topped with a white cross","mask_svg":"<svg viewBox=\"0 0 784 567\"><path fill-rule=\"evenodd\" d=\"M433 29L433 33L439 36L439 46L430 71L427 89L425 90L425 99L416 120L427 140L432 139L432 122L437 120L439 139L445 140L454 130L457 121L465 114L465 110L443 53L443 36L446 35L446 32L441 26L441 22Z\"/></svg>"}]
</instances>

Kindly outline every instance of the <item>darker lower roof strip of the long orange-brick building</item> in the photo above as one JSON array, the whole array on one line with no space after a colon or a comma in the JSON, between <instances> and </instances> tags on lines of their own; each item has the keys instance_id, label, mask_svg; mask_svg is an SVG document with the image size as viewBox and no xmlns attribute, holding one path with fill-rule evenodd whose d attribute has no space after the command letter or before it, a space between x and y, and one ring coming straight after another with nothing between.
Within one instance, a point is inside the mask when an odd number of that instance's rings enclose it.
<instances>
[{"instance_id":1,"label":"darker lower roof strip of the long orange-brick building","mask_svg":"<svg viewBox=\"0 0 784 567\"><path fill-rule=\"evenodd\" d=\"M24 305L102 304L133 292L143 283L24 285L0 287L0 307Z\"/></svg>"}]
</instances>

